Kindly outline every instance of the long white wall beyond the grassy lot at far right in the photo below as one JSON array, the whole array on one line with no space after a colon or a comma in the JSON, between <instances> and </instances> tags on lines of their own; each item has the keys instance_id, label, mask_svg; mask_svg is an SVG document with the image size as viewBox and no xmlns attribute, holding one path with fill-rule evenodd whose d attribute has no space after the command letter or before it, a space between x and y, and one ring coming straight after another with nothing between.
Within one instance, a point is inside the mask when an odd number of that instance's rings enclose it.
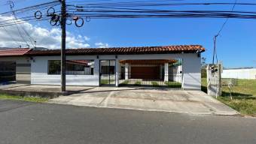
<instances>
[{"instance_id":1,"label":"long white wall beyond the grassy lot at far right","mask_svg":"<svg viewBox=\"0 0 256 144\"><path fill-rule=\"evenodd\" d=\"M230 68L224 69L221 74L222 78L235 78L256 80L256 68Z\"/></svg>"}]
</instances>

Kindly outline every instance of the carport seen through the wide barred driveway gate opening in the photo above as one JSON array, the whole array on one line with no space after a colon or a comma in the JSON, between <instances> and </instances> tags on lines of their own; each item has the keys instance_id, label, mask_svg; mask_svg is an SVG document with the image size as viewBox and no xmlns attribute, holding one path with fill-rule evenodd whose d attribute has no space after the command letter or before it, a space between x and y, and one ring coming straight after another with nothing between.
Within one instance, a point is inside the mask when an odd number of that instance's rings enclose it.
<instances>
[{"instance_id":1,"label":"carport seen through the wide barred driveway gate opening","mask_svg":"<svg viewBox=\"0 0 256 144\"><path fill-rule=\"evenodd\" d=\"M181 59L120 60L120 86L181 88Z\"/></svg>"}]
</instances>

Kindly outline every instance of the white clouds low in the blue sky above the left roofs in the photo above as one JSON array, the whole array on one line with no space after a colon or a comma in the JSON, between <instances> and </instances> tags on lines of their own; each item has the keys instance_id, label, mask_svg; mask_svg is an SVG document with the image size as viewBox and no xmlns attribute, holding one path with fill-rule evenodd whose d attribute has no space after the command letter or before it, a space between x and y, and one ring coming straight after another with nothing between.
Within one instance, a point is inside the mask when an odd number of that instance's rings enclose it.
<instances>
[{"instance_id":1,"label":"white clouds low in the blue sky above the left roofs","mask_svg":"<svg viewBox=\"0 0 256 144\"><path fill-rule=\"evenodd\" d=\"M11 20L12 17L2 17L0 16L0 21ZM59 49L61 42L61 29L60 28L42 28L40 26L32 26L30 23L23 23L23 28L29 33L29 35L37 41L38 47L46 47L49 49ZM5 31L6 29L6 31ZM22 29L20 31L23 31ZM29 37L23 32L23 37L32 47L29 42ZM66 37L66 47L67 48L86 48L90 44L87 41L90 40L86 36L75 36L71 32L67 31ZM17 41L17 42L15 42ZM0 28L0 47L18 47L22 45L26 46L23 42L23 38L20 36L17 26L8 26L5 28Z\"/></svg>"}]
</instances>

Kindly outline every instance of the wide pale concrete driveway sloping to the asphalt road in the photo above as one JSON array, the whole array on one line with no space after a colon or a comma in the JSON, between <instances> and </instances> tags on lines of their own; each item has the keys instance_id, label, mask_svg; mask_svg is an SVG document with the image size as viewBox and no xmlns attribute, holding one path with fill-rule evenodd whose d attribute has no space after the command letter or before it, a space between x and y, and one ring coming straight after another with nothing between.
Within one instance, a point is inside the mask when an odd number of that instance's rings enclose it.
<instances>
[{"instance_id":1,"label":"wide pale concrete driveway sloping to the asphalt road","mask_svg":"<svg viewBox=\"0 0 256 144\"><path fill-rule=\"evenodd\" d=\"M238 114L204 92L180 89L96 87L78 94L53 98L49 103L190 114Z\"/></svg>"}]
</instances>

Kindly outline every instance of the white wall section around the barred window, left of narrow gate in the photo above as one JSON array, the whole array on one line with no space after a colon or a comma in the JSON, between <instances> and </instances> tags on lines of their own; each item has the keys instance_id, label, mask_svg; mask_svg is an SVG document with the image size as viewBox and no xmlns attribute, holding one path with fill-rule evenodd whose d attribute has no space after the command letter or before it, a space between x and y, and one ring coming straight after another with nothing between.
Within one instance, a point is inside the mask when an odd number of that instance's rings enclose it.
<instances>
[{"instance_id":1,"label":"white wall section around the barred window, left of narrow gate","mask_svg":"<svg viewBox=\"0 0 256 144\"><path fill-rule=\"evenodd\" d=\"M36 56L31 63L31 84L60 85L60 75L48 75L48 60L60 60L60 56ZM93 75L66 75L66 85L99 86L99 59L95 56L67 56L69 59L94 60Z\"/></svg>"}]
</instances>

